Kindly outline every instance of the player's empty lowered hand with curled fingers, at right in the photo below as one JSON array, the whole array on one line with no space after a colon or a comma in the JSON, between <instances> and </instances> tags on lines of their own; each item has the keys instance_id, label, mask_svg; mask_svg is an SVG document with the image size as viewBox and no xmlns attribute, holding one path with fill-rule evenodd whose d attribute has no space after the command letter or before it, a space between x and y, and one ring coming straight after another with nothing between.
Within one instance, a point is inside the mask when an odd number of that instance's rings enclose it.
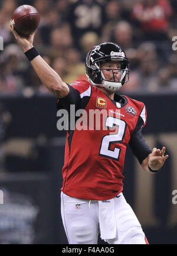
<instances>
[{"instance_id":1,"label":"player's empty lowered hand with curled fingers, at right","mask_svg":"<svg viewBox=\"0 0 177 256\"><path fill-rule=\"evenodd\" d=\"M169 157L169 155L164 154L165 147L163 147L162 150L159 150L159 148L153 148L148 161L149 167L152 168L152 170L159 170L163 166L165 160Z\"/></svg>"}]
</instances>

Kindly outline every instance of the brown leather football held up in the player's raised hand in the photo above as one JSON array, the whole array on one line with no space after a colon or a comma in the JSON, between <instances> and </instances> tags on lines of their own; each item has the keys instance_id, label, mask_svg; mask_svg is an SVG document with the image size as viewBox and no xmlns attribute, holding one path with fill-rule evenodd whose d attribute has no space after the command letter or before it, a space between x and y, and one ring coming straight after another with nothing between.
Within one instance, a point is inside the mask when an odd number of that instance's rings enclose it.
<instances>
[{"instance_id":1,"label":"brown leather football held up in the player's raised hand","mask_svg":"<svg viewBox=\"0 0 177 256\"><path fill-rule=\"evenodd\" d=\"M19 35L29 37L30 34L37 30L40 19L37 9L31 5L21 5L15 9L11 24L14 25Z\"/></svg>"}]
</instances>

